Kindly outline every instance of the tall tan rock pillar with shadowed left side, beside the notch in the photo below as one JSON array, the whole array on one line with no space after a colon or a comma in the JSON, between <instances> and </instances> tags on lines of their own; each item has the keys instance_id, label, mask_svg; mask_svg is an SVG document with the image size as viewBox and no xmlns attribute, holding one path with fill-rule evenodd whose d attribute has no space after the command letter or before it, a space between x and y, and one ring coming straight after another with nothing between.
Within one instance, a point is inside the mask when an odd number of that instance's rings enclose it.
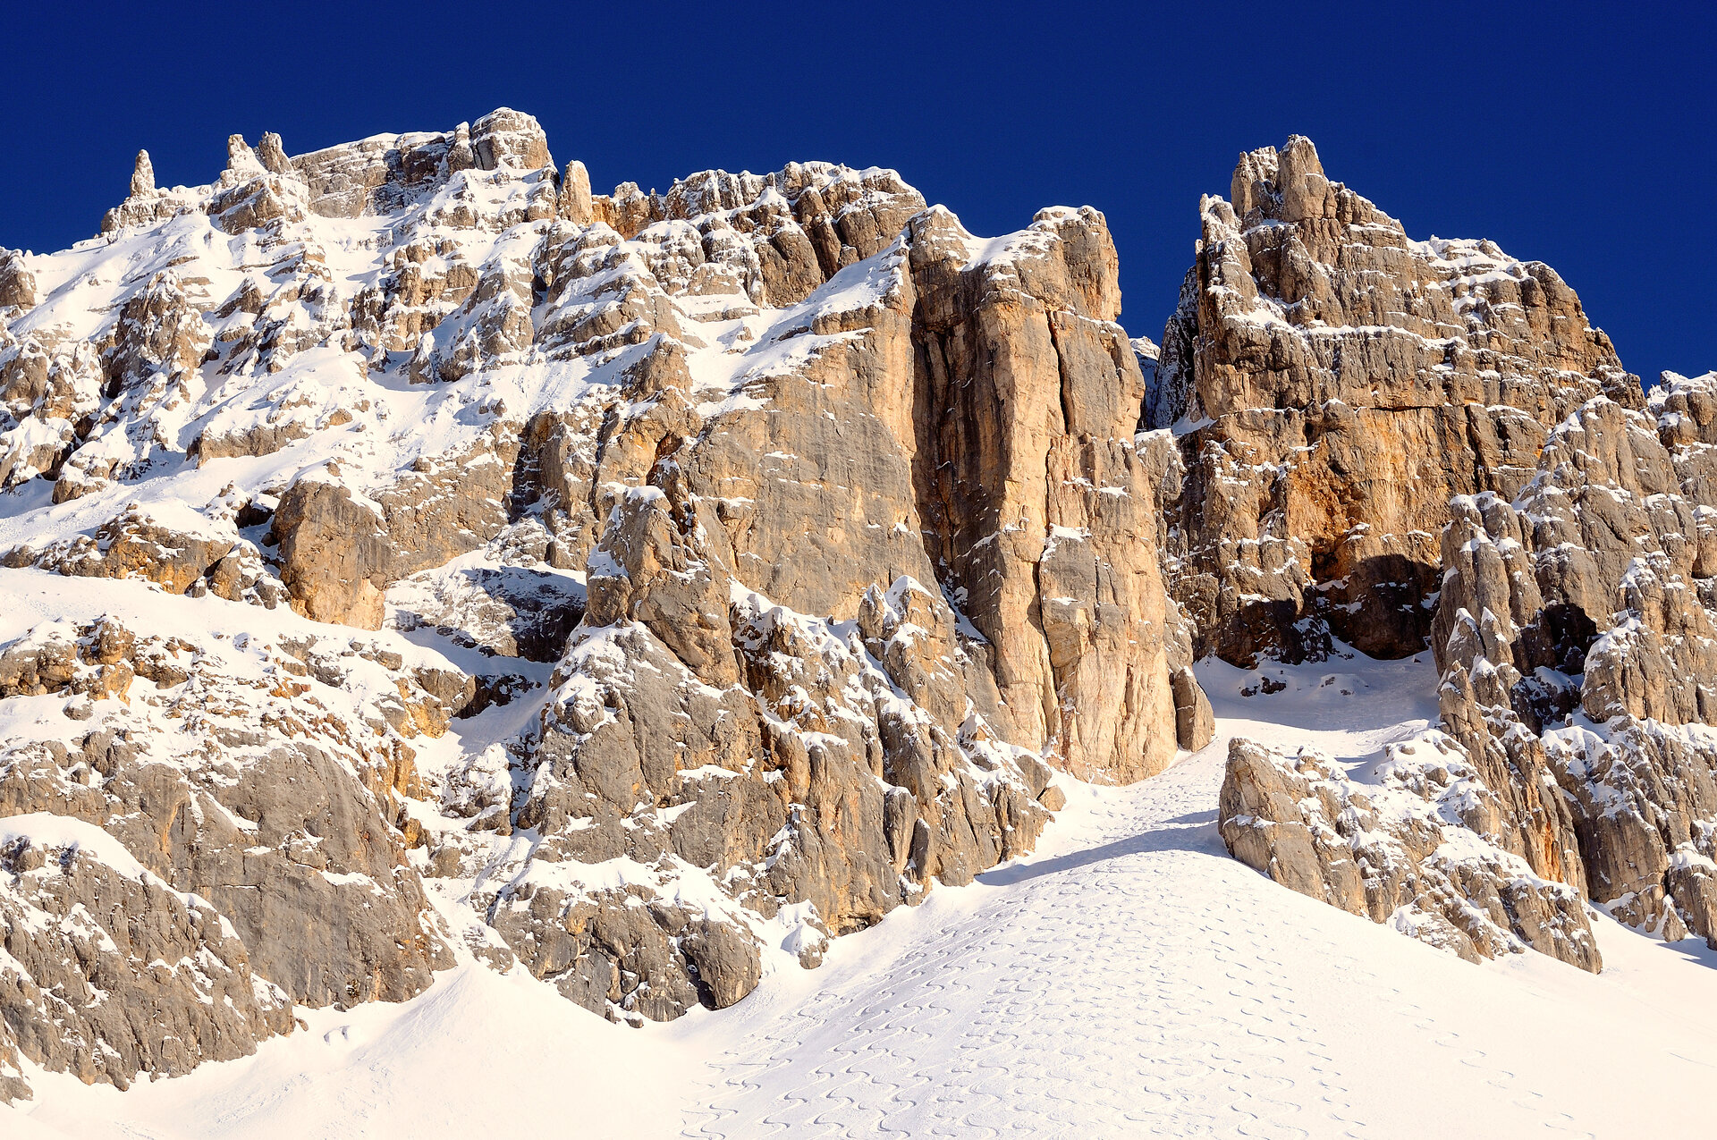
<instances>
[{"instance_id":1,"label":"tall tan rock pillar with shadowed left side, beside the notch","mask_svg":"<svg viewBox=\"0 0 1717 1140\"><path fill-rule=\"evenodd\" d=\"M970 264L970 242L946 215L913 223L925 553L992 646L1013 740L1150 776L1176 750L1180 613L1114 246L1092 209L1041 213L1006 259Z\"/></svg>"}]
</instances>

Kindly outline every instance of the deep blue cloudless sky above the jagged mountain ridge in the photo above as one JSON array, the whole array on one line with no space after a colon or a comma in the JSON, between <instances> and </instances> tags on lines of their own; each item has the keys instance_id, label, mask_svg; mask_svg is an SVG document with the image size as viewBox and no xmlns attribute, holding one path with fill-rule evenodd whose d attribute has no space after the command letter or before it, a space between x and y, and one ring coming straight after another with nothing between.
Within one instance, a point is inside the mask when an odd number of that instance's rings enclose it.
<instances>
[{"instance_id":1,"label":"deep blue cloudless sky above the jagged mountain ridge","mask_svg":"<svg viewBox=\"0 0 1717 1140\"><path fill-rule=\"evenodd\" d=\"M3 246L93 235L139 146L199 184L232 132L295 155L508 105L598 189L822 158L986 235L1094 204L1157 337L1198 194L1298 132L1413 237L1556 266L1647 381L1717 367L1710 5L7 7Z\"/></svg>"}]
</instances>

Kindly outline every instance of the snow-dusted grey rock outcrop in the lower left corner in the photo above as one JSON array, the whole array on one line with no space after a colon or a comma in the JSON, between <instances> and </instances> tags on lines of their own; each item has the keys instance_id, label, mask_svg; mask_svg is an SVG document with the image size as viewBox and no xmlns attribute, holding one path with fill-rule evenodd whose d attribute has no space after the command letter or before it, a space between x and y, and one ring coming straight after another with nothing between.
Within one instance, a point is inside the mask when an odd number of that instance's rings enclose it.
<instances>
[{"instance_id":1,"label":"snow-dusted grey rock outcrop in the lower left corner","mask_svg":"<svg viewBox=\"0 0 1717 1140\"><path fill-rule=\"evenodd\" d=\"M440 700L355 642L199 640L103 616L0 652L0 697L36 699L0 749L5 1016L86 1082L242 1056L292 1003L398 1001L452 963L390 826Z\"/></svg>"}]
</instances>

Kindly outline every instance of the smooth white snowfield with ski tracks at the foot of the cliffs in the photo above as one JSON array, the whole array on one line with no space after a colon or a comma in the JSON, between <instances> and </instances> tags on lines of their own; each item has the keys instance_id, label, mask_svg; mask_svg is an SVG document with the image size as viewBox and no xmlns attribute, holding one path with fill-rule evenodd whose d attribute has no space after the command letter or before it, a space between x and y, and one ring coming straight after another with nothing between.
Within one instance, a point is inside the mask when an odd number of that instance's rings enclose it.
<instances>
[{"instance_id":1,"label":"smooth white snowfield with ski tracks at the foot of the cliffs","mask_svg":"<svg viewBox=\"0 0 1717 1140\"><path fill-rule=\"evenodd\" d=\"M1604 972L1482 967L1231 860L1236 735L1365 762L1435 719L1435 671L1200 666L1217 740L1128 788L1066 781L1039 853L642 1030L465 961L130 1092L33 1071L7 1137L1693 1137L1717 955L1593 917Z\"/></svg>"}]
</instances>

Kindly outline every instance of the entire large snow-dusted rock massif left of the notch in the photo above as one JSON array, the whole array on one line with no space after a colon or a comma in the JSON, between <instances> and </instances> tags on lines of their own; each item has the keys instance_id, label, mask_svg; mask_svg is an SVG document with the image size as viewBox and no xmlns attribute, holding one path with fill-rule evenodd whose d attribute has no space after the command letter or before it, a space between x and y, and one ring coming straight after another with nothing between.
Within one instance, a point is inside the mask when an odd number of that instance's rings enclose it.
<instances>
[{"instance_id":1,"label":"entire large snow-dusted rock massif left of the notch","mask_svg":"<svg viewBox=\"0 0 1717 1140\"><path fill-rule=\"evenodd\" d=\"M134 881L77 888L113 1008L270 1001L24 1063L180 1071L455 958L726 1006L1028 850L1058 767L1202 743L1118 312L1095 209L979 239L889 170L598 196L510 110L139 156L100 237L0 254L0 814L197 900L227 973L168 992ZM17 929L39 1028L103 936Z\"/></svg>"}]
</instances>

